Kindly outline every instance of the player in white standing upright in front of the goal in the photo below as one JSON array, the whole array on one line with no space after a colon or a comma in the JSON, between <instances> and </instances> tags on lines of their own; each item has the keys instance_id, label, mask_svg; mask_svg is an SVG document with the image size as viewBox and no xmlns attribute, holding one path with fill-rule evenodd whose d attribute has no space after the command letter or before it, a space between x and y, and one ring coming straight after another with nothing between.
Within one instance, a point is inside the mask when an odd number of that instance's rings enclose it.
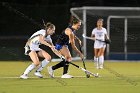
<instances>
[{"instance_id":1,"label":"player in white standing upright in front of the goal","mask_svg":"<svg viewBox=\"0 0 140 93\"><path fill-rule=\"evenodd\" d=\"M103 19L97 20L97 27L93 29L91 37L95 39L94 42L94 61L97 69L103 68L104 51L106 43L102 42L105 39L109 40L106 29L103 27Z\"/></svg>"}]
</instances>

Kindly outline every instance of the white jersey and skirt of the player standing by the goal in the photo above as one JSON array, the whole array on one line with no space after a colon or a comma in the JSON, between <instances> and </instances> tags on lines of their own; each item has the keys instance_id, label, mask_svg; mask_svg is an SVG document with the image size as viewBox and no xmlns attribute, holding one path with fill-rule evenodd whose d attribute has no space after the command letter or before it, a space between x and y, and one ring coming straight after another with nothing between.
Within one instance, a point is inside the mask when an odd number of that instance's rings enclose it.
<instances>
[{"instance_id":1,"label":"white jersey and skirt of the player standing by the goal","mask_svg":"<svg viewBox=\"0 0 140 93\"><path fill-rule=\"evenodd\" d=\"M106 44L104 42L98 41L102 40L105 41L105 35L107 35L107 31L105 28L102 27L101 30L98 30L97 28L94 28L92 31L92 35L95 35L95 42L94 42L94 48L105 48ZM98 40L96 40L98 39Z\"/></svg>"}]
</instances>

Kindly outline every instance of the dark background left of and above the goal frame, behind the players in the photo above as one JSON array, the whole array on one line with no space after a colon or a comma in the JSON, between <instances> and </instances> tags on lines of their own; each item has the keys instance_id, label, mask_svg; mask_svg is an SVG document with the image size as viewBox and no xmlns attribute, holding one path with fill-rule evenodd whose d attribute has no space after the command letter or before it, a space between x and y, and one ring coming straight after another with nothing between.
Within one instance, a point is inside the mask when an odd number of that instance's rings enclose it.
<instances>
[{"instance_id":1,"label":"dark background left of and above the goal frame, behind the players","mask_svg":"<svg viewBox=\"0 0 140 93\"><path fill-rule=\"evenodd\" d=\"M8 3L29 18L21 16L3 4ZM40 29L39 24L52 22L56 36L69 23L70 8L81 6L139 7L139 0L0 0L0 60L25 60L24 45L31 34ZM34 23L30 20L37 23ZM42 46L43 47L43 46ZM53 55L53 54L52 54ZM55 55L54 55L55 56Z\"/></svg>"}]
</instances>

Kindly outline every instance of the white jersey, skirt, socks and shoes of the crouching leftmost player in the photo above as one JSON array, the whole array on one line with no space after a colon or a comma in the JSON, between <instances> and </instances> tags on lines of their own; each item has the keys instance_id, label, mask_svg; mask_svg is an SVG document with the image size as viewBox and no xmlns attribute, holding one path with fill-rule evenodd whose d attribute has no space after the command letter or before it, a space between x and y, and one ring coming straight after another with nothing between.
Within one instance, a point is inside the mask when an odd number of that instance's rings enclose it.
<instances>
[{"instance_id":1,"label":"white jersey, skirt, socks and shoes of the crouching leftmost player","mask_svg":"<svg viewBox=\"0 0 140 93\"><path fill-rule=\"evenodd\" d=\"M35 52L39 52L42 49L39 48L39 45L41 45L41 42L39 41L39 36L46 36L46 30L41 29L37 32L35 32L27 41L26 45L25 45L25 55L29 55L29 53L31 51L35 51ZM50 35L47 35L45 37L45 41L52 43L52 39ZM44 50L43 50L44 51ZM43 76L40 74L40 72L42 71L42 69L49 63L50 61L48 59L44 59L40 65L38 66L38 69L35 71L34 75L36 75L39 78L42 78ZM31 72L34 68L36 67L36 65L34 63L30 64L26 70L24 71L24 73L20 76L20 78L22 79L27 79L28 78L28 74L29 72Z\"/></svg>"}]
</instances>

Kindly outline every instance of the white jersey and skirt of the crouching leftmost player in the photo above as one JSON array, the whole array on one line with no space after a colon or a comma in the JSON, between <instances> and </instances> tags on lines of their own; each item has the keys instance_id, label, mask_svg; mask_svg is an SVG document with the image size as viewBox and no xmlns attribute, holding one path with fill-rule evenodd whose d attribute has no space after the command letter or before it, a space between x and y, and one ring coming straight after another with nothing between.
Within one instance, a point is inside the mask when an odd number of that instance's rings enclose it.
<instances>
[{"instance_id":1,"label":"white jersey and skirt of the crouching leftmost player","mask_svg":"<svg viewBox=\"0 0 140 93\"><path fill-rule=\"evenodd\" d=\"M43 35L45 36L46 35L46 30L44 29L41 29L37 32L35 32L30 38L30 43L29 45L26 45L25 46L25 54L27 55L27 51L28 50L31 50L31 51L40 51L41 49L39 48L39 45L41 45L40 41L39 41L39 36L40 35ZM51 42L52 43L52 39L51 39L51 36L48 35L45 37L45 41L47 42Z\"/></svg>"}]
</instances>

